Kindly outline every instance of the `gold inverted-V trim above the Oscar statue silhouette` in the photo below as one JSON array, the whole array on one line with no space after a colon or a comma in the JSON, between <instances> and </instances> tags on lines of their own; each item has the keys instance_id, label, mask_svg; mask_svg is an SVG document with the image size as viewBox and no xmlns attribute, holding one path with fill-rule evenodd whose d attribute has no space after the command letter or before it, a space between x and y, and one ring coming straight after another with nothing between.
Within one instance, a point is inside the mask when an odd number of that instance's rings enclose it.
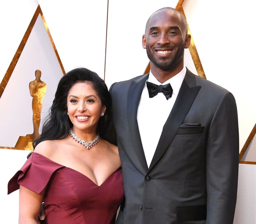
<instances>
[{"instance_id":1,"label":"gold inverted-V trim above the Oscar statue silhouette","mask_svg":"<svg viewBox=\"0 0 256 224\"><path fill-rule=\"evenodd\" d=\"M10 66L8 67L7 72L5 73L4 78L1 81L1 84L0 84L0 98L1 98L1 96L3 94L3 92L4 92L5 87L7 86L8 81L11 78L12 72L14 71L14 68L15 68L15 66L16 66L16 64L17 64L17 62L19 60L19 57L20 57L20 55L21 55L21 53L22 53L22 51L23 51L23 49L24 49L24 47L25 47L25 45L27 43L27 39L29 38L29 36L31 34L31 31L32 31L32 29L33 29L33 27L35 25L35 21L37 20L39 14L42 17L45 29L46 29L46 31L48 33L50 42L52 43L52 47L53 47L54 52L56 54L56 57L57 57L57 59L59 61L61 70L62 70L63 74L65 74L65 70L64 70L64 67L63 67L63 65L61 63L60 56L59 56L59 54L57 52L56 46L55 46L55 44L53 42L52 35L50 34L49 28L48 28L48 26L46 24L46 21L45 21L44 15L42 13L42 10L40 8L40 5L38 4L37 9L35 10L34 16L31 19L31 22L29 24L29 27L27 28L27 30L26 30L26 32L25 32L25 34L24 34L24 36L23 36L23 38L22 38L22 40L20 42L20 45L19 45L19 47L18 47L18 49L17 49L17 51L16 51L16 53L15 53L11 63L10 63Z\"/></svg>"}]
</instances>

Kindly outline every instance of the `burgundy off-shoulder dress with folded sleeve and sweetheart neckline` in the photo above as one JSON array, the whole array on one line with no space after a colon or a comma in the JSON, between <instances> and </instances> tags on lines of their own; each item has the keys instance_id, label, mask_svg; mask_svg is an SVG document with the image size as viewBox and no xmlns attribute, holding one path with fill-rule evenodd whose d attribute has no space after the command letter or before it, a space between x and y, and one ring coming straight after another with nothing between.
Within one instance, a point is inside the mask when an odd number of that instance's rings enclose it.
<instances>
[{"instance_id":1,"label":"burgundy off-shoulder dress with folded sleeve and sweetheart neckline","mask_svg":"<svg viewBox=\"0 0 256 224\"><path fill-rule=\"evenodd\" d=\"M47 224L112 224L124 196L121 167L102 185L34 152L8 183L8 194L24 186L41 193Z\"/></svg>"}]
</instances>

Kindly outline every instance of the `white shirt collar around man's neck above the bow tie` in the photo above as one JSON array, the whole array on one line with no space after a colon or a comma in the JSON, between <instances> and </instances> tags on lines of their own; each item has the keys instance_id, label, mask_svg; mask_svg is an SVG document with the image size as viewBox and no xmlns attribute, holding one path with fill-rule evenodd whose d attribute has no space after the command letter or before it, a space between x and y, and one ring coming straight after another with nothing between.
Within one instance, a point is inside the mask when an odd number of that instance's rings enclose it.
<instances>
[{"instance_id":1,"label":"white shirt collar around man's neck above the bow tie","mask_svg":"<svg viewBox=\"0 0 256 224\"><path fill-rule=\"evenodd\" d=\"M178 92L180 91L180 87L184 80L186 72L187 72L187 69L184 66L183 69L178 74L176 74L169 80L166 80L164 83L161 83L155 78L155 76L151 73L151 70L150 70L149 76L148 76L148 82L152 82L156 85L165 85L165 84L170 83L170 85L172 86L172 89L173 89L173 94L175 94L177 96Z\"/></svg>"}]
</instances>

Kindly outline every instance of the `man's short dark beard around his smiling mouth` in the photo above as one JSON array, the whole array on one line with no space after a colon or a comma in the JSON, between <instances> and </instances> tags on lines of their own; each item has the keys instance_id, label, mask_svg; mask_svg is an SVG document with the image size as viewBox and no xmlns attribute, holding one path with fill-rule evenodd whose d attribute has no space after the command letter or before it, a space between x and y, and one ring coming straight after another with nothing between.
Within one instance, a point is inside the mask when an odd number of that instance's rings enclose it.
<instances>
[{"instance_id":1,"label":"man's short dark beard around his smiling mouth","mask_svg":"<svg viewBox=\"0 0 256 224\"><path fill-rule=\"evenodd\" d=\"M159 48L160 49L160 48ZM169 70L178 65L178 63L183 58L184 54L184 43L180 47L176 47L172 51L171 57L161 57L161 59L157 58L155 56L155 51L148 49L148 46L146 47L147 50L147 57L148 59L158 68L161 70Z\"/></svg>"}]
</instances>

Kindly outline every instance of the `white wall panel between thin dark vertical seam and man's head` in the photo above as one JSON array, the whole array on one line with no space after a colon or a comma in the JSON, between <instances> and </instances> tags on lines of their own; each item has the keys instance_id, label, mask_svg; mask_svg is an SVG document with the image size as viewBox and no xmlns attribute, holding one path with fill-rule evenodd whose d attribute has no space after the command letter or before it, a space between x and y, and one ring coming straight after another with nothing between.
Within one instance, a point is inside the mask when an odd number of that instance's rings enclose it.
<instances>
[{"instance_id":1,"label":"white wall panel between thin dark vertical seam and man's head","mask_svg":"<svg viewBox=\"0 0 256 224\"><path fill-rule=\"evenodd\" d=\"M149 62L142 35L149 16L162 7L176 7L177 0L109 0L106 84L142 75Z\"/></svg>"}]
</instances>

